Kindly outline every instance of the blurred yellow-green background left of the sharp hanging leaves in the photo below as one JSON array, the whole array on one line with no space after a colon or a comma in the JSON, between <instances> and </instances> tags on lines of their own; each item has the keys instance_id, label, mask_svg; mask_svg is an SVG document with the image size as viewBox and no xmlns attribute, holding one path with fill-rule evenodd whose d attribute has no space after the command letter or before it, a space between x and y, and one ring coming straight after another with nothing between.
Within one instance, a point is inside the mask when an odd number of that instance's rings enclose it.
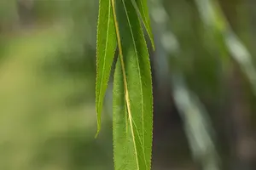
<instances>
[{"instance_id":1,"label":"blurred yellow-green background left of the sharp hanging leaves","mask_svg":"<svg viewBox=\"0 0 256 170\"><path fill-rule=\"evenodd\" d=\"M96 10L1 0L0 169L113 167L111 133L94 139Z\"/></svg>"}]
</instances>

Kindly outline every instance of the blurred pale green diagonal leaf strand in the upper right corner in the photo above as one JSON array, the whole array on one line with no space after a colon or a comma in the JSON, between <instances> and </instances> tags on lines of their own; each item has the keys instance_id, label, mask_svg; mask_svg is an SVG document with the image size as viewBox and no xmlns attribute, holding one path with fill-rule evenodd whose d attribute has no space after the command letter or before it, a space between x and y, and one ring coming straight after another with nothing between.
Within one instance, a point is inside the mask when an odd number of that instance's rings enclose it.
<instances>
[{"instance_id":1,"label":"blurred pale green diagonal leaf strand in the upper right corner","mask_svg":"<svg viewBox=\"0 0 256 170\"><path fill-rule=\"evenodd\" d=\"M210 28L207 31L210 31L210 33L212 33L211 31L216 31L221 35L224 40L224 49L231 54L232 58L241 67L241 71L247 76L252 85L253 93L256 95L256 68L253 65L253 57L230 28L218 5L218 1L196 0L195 2L205 26ZM223 48L220 43L218 48ZM226 57L229 57L229 55L226 55Z\"/></svg>"}]
</instances>

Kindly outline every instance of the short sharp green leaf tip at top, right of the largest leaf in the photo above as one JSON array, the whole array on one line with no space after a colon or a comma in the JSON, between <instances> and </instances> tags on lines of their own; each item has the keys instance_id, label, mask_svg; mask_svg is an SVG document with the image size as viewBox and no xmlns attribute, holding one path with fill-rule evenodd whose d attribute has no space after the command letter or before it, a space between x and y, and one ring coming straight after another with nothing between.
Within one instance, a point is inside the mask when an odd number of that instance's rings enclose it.
<instances>
[{"instance_id":1,"label":"short sharp green leaf tip at top, right of the largest leaf","mask_svg":"<svg viewBox=\"0 0 256 170\"><path fill-rule=\"evenodd\" d=\"M152 47L154 49L154 36L152 33L150 17L148 14L148 0L131 0L134 8L137 9L137 14L143 20L143 25L145 26L146 31L148 32L148 37L151 41Z\"/></svg>"}]
</instances>

